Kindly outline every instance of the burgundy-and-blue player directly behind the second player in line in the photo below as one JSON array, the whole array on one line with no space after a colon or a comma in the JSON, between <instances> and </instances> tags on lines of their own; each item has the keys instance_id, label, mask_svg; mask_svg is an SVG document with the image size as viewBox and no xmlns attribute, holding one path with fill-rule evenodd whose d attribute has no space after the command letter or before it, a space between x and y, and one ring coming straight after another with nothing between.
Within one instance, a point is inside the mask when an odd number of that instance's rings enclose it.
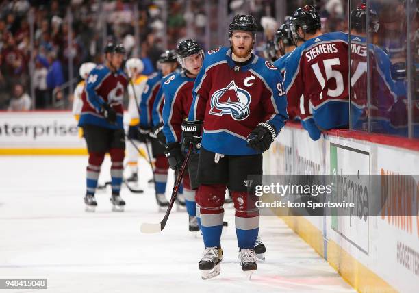
<instances>
[{"instance_id":1,"label":"burgundy-and-blue player directly behind the second player in line","mask_svg":"<svg viewBox=\"0 0 419 293\"><path fill-rule=\"evenodd\" d=\"M177 68L176 53L174 50L168 50L160 55L158 60L160 70L147 79L146 86L142 92L140 101L140 133L144 136L144 140L149 138L151 129L158 129L162 125L157 123L153 125L152 112L156 97L161 97L160 86L162 78L169 75ZM160 93L159 93L160 92ZM159 107L160 113L162 106ZM155 158L155 193L157 205L160 207L167 207L168 201L164 192L166 192L168 161L164 156L164 146L157 141L157 138L151 137L151 151Z\"/></svg>"}]
</instances>

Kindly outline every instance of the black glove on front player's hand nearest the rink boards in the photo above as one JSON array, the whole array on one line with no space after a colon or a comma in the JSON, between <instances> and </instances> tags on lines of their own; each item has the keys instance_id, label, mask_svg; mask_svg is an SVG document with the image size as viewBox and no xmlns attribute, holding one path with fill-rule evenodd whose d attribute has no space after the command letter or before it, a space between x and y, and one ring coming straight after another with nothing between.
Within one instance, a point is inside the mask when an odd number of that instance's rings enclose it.
<instances>
[{"instance_id":1,"label":"black glove on front player's hand nearest the rink boards","mask_svg":"<svg viewBox=\"0 0 419 293\"><path fill-rule=\"evenodd\" d=\"M270 123L262 122L247 137L247 146L255 151L268 151L270 144L277 138L275 127Z\"/></svg>"}]
</instances>

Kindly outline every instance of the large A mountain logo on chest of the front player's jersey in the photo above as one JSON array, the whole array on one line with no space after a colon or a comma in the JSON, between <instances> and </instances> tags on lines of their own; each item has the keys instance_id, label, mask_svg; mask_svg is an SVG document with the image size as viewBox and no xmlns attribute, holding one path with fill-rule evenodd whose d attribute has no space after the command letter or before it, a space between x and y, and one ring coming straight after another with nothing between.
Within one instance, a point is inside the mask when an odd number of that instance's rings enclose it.
<instances>
[{"instance_id":1,"label":"large A mountain logo on chest of the front player's jersey","mask_svg":"<svg viewBox=\"0 0 419 293\"><path fill-rule=\"evenodd\" d=\"M251 95L249 92L238 88L234 81L231 81L227 87L212 94L210 114L217 116L231 115L234 120L244 120L250 114L250 103Z\"/></svg>"}]
</instances>

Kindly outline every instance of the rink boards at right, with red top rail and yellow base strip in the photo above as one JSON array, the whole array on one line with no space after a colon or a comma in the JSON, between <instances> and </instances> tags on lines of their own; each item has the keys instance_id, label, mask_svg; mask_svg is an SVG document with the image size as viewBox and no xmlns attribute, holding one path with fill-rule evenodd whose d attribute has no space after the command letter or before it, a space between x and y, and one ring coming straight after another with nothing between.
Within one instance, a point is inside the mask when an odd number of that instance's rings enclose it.
<instances>
[{"instance_id":1,"label":"rink boards at right, with red top rail and yellow base strip","mask_svg":"<svg viewBox=\"0 0 419 293\"><path fill-rule=\"evenodd\" d=\"M264 174L331 174L338 169L343 174L417 175L418 147L417 141L353 131L329 131L314 142L300 125L291 124L265 153ZM403 180L391 184L389 202L396 207L388 208L417 207L418 181L413 191ZM411 201L400 205L398 195L407 192ZM400 214L406 216L282 218L360 292L416 292L419 219Z\"/></svg>"}]
</instances>

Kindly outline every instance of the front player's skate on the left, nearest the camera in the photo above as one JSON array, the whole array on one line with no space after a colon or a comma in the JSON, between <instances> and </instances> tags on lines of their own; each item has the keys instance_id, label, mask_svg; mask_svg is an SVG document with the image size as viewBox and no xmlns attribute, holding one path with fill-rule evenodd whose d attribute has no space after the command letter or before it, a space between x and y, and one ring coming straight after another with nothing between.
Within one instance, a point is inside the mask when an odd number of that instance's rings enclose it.
<instances>
[{"instance_id":1,"label":"front player's skate on the left, nearest the camera","mask_svg":"<svg viewBox=\"0 0 419 293\"><path fill-rule=\"evenodd\" d=\"M202 279L214 278L221 273L220 262L223 260L223 249L220 247L207 247L198 263Z\"/></svg>"}]
</instances>

